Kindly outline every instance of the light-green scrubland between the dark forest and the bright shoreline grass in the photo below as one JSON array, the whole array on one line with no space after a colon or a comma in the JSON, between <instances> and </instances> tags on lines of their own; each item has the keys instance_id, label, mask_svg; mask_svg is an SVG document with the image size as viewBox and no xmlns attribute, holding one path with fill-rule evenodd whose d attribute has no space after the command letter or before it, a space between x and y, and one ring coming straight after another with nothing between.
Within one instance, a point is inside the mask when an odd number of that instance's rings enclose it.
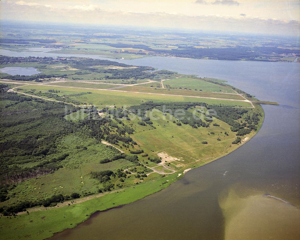
<instances>
[{"instance_id":1,"label":"light-green scrubland between the dark forest and the bright shoreline grass","mask_svg":"<svg viewBox=\"0 0 300 240\"><path fill-rule=\"evenodd\" d=\"M76 146L80 148L77 149ZM87 150L82 150L87 147ZM72 192L96 193L102 187L97 179L90 177L91 171L113 170L134 166L127 160L100 164L100 159L113 156L112 151L104 144L98 144L93 139L82 139L80 136L69 135L62 138L59 148L68 151L69 156L61 163L63 168L53 174L31 178L18 184L10 193L11 198L5 202L10 204L18 200L34 200L50 197L54 194L71 194ZM38 164L38 163L36 163ZM123 185L134 184L128 179ZM0 205L3 205L1 203Z\"/></svg>"}]
</instances>

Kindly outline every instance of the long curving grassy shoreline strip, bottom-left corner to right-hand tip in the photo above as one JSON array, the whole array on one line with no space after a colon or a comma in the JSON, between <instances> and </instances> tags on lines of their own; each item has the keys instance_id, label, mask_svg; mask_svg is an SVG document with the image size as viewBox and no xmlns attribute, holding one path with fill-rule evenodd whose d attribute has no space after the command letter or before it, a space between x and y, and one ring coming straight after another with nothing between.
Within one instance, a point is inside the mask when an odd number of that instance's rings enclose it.
<instances>
[{"instance_id":1,"label":"long curving grassy shoreline strip, bottom-left corner to right-hand tip","mask_svg":"<svg viewBox=\"0 0 300 240\"><path fill-rule=\"evenodd\" d=\"M225 152L218 154L217 156L211 157L210 159L208 159L205 162L198 163L198 165L197 165L197 162L190 163L186 166L186 169L175 172L170 175L167 175L164 178L160 178L160 179L150 181L150 182L147 182L144 184L139 184L134 187L132 186L132 187L124 188L124 189L113 190L106 194L102 193L101 196L99 196L101 193L95 194L95 195L90 195L90 196L86 197L87 199L85 201L81 201L81 202L78 202L78 203L75 203L72 205L67 205L67 203L66 203L64 206L61 206L61 207L57 207L57 206L48 207L47 209L44 209L44 210L37 210L37 207L31 208L32 210L35 210L35 211L30 211L30 208L29 208L28 209L29 214L27 214L27 215L19 214L16 218L12 218L12 220L18 219L18 223L21 223L22 221L20 221L19 217L27 218L27 220L35 218L36 219L35 220L36 227L34 227L34 229L32 230L33 232L35 232L35 239L49 239L49 238L52 238L55 234L58 234L59 232L63 232L65 230L71 231L79 224L90 219L90 217L97 212L106 211L106 210L109 210L109 209L112 209L115 207L122 207L122 206L125 206L128 204L137 202L138 200L144 199L149 195L152 195L156 192L166 189L172 183L183 178L185 173L187 173L188 171L205 166L209 163L212 163L212 162L214 162L218 159L221 159L222 157L234 152L239 147L243 146L248 141L250 141L259 132L259 129L261 128L261 126L264 122L264 119L265 119L265 114L264 114L263 108L262 108L262 112L263 112L263 119L262 119L262 123L259 126L258 130L255 133L252 133L250 136L248 136L248 139L246 141L243 141L243 142L241 142L241 144L238 144L237 146L235 146L235 148L230 152L226 152L226 150L230 149L229 148L229 149L226 149ZM147 188L147 189L145 190L144 188ZM128 193L128 192L130 192L130 193ZM117 196L117 195L119 195L119 196ZM88 199L89 197L90 197L90 199ZM121 199L118 199L118 197ZM119 202L117 202L116 199L118 199ZM72 200L74 202L76 202L76 199L72 199ZM79 200L79 199L77 199L77 200ZM40 208L40 207L38 207L38 208ZM70 209L68 209L68 208L70 208ZM79 211L79 213L76 211ZM58 221L55 220L55 217L59 217L59 216L63 216L63 215L64 215L64 218L59 219L61 222L58 222L59 220ZM5 225L3 226L3 224L1 224L3 229L6 229L6 231L7 231L7 234L2 233L2 235L5 236L6 239L15 239L13 236L10 236L11 231L9 231L9 228L13 227L14 229L16 229L16 227L18 227L18 226L13 225L13 222L11 222L11 221L7 221L8 220L7 218L1 217L1 219L0 219L0 221L2 219L5 219L4 220L4 221L6 221L5 223L10 222L7 226L5 226ZM37 233L36 229L38 228L38 224L42 224L43 220L45 218L50 220L50 222L47 223L47 227L40 229L41 231L39 233ZM37 222L37 220L39 222ZM26 221L26 219L24 221ZM74 221L74 222L67 224L66 221ZM26 223L28 224L28 221L22 222L21 226L24 227L24 225L25 225L26 227L30 228L31 227L30 221L29 221L28 225ZM49 231L46 231L46 230L49 230ZM28 230L28 231L30 232L30 230ZM2 230L2 232L3 232L3 230ZM39 235L39 234L41 234L41 235ZM24 235L22 233L20 235L14 235L14 236L19 237L19 238L24 237Z\"/></svg>"}]
</instances>

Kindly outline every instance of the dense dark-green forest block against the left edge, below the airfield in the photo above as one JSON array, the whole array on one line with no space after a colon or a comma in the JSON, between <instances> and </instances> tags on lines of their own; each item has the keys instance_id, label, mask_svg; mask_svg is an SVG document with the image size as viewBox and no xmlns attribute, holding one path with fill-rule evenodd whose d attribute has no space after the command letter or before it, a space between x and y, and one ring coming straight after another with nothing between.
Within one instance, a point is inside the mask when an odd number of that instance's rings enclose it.
<instances>
[{"instance_id":1,"label":"dense dark-green forest block against the left edge, below the airfield","mask_svg":"<svg viewBox=\"0 0 300 240\"><path fill-rule=\"evenodd\" d=\"M77 128L75 123L64 119L65 110L75 108L2 90L0 96L0 100L10 102L0 109L0 187L61 167L59 162L67 153L58 153L55 142ZM36 161L40 163L27 168L16 164Z\"/></svg>"}]
</instances>

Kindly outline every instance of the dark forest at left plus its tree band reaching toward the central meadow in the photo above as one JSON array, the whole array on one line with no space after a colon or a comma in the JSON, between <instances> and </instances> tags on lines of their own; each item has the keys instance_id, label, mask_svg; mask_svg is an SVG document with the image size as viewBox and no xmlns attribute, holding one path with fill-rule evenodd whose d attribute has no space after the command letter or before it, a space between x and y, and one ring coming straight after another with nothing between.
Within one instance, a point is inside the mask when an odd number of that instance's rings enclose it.
<instances>
[{"instance_id":1,"label":"dark forest at left plus its tree band reaching toward the central meadow","mask_svg":"<svg viewBox=\"0 0 300 240\"><path fill-rule=\"evenodd\" d=\"M132 134L132 128L123 123L123 126L116 124L115 129L111 126L114 119L100 117L94 108L86 109L89 114L96 113L94 117L73 122L64 119L68 113L79 110L72 105L0 91L0 100L4 103L0 106L1 201L8 199L8 191L15 183L53 173L62 167L60 162L68 157L68 153L58 151L57 144L64 135L78 132L99 142L105 139L117 145L119 142L132 147L137 144L125 135ZM120 153L112 146L107 147L116 155ZM122 157L134 163L138 160L136 156ZM20 166L26 163L33 163L32 167Z\"/></svg>"}]
</instances>

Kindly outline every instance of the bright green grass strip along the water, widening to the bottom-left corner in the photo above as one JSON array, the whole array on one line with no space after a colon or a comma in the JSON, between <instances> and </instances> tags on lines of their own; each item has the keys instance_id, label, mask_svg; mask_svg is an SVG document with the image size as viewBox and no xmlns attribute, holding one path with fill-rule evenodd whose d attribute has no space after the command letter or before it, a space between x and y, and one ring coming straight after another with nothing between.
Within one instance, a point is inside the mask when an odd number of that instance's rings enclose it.
<instances>
[{"instance_id":1,"label":"bright green grass strip along the water, widening to the bottom-left corner","mask_svg":"<svg viewBox=\"0 0 300 240\"><path fill-rule=\"evenodd\" d=\"M153 173L154 175L155 173ZM17 217L1 217L1 237L3 239L45 239L55 232L73 228L88 219L96 211L103 211L119 205L128 204L158 192L174 181L182 178L178 173L158 178L145 184L138 184L88 201L63 207L48 208ZM163 184L164 183L164 184ZM76 200L74 201L76 202ZM13 234L11 234L13 232Z\"/></svg>"}]
</instances>

